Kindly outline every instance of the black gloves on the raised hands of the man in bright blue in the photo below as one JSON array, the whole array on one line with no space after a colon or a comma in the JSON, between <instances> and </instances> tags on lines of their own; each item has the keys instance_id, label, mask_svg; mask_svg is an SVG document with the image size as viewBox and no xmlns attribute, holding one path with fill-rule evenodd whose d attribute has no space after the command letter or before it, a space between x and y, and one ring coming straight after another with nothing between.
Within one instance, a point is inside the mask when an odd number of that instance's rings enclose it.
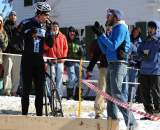
<instances>
[{"instance_id":1,"label":"black gloves on the raised hands of the man in bright blue","mask_svg":"<svg viewBox=\"0 0 160 130\"><path fill-rule=\"evenodd\" d=\"M97 34L97 36L100 36L105 32L103 26L100 25L98 21L94 23L94 26L92 29L93 29L93 32Z\"/></svg>"}]
</instances>

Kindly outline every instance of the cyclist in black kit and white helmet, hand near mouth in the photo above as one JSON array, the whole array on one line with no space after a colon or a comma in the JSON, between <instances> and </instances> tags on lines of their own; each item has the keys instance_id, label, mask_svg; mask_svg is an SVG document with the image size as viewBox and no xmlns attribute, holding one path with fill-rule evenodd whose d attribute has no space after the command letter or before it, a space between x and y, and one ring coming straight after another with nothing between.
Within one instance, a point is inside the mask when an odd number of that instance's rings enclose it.
<instances>
[{"instance_id":1,"label":"cyclist in black kit and white helmet, hand near mouth","mask_svg":"<svg viewBox=\"0 0 160 130\"><path fill-rule=\"evenodd\" d=\"M34 81L36 89L35 108L36 115L42 116L43 110L43 86L44 86L44 60L43 44L52 47L52 32L50 27L46 30L43 25L49 21L51 7L46 2L35 4L36 14L34 17L23 20L18 26L18 32L24 43L22 54L22 115L28 114L29 92Z\"/></svg>"}]
</instances>

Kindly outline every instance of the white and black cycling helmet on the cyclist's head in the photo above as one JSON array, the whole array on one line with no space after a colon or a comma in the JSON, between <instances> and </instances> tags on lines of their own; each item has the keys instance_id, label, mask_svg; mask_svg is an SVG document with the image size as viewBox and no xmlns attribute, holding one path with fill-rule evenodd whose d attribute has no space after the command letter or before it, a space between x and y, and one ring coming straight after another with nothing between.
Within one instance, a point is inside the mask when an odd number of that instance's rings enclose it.
<instances>
[{"instance_id":1,"label":"white and black cycling helmet on the cyclist's head","mask_svg":"<svg viewBox=\"0 0 160 130\"><path fill-rule=\"evenodd\" d=\"M36 14L49 14L49 12L51 11L51 7L48 3L46 2L37 2L34 5L34 8L36 10Z\"/></svg>"}]
</instances>

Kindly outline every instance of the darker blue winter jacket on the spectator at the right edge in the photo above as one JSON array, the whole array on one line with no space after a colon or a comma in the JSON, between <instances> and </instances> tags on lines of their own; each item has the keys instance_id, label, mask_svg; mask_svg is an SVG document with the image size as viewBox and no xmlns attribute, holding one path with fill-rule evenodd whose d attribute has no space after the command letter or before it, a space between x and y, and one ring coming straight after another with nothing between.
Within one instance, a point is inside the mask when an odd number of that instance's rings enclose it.
<instances>
[{"instance_id":1,"label":"darker blue winter jacket on the spectator at the right edge","mask_svg":"<svg viewBox=\"0 0 160 130\"><path fill-rule=\"evenodd\" d=\"M160 75L160 40L158 38L147 38L139 46L138 54L141 56L141 74Z\"/></svg>"}]
</instances>

